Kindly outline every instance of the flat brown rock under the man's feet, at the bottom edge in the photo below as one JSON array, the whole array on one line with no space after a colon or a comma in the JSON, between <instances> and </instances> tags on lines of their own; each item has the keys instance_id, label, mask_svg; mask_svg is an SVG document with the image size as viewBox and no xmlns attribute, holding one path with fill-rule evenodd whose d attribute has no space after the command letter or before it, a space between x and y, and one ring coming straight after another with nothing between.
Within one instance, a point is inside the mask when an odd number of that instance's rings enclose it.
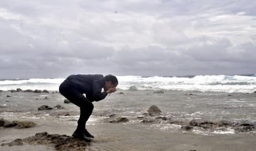
<instances>
[{"instance_id":1,"label":"flat brown rock under the man's feet, at the bottom edge","mask_svg":"<svg viewBox=\"0 0 256 151\"><path fill-rule=\"evenodd\" d=\"M56 150L85 150L89 142L81 141L67 135L36 133L35 136L16 139L10 143L2 143L1 146L22 146L23 144L41 144L55 147Z\"/></svg>"}]
</instances>

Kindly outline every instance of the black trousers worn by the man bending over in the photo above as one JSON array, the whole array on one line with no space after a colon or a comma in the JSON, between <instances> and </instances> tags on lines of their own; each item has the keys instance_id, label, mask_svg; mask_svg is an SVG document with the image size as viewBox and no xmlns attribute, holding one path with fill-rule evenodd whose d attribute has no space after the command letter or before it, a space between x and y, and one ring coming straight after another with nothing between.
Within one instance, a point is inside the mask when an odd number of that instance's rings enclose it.
<instances>
[{"instance_id":1,"label":"black trousers worn by the man bending over","mask_svg":"<svg viewBox=\"0 0 256 151\"><path fill-rule=\"evenodd\" d=\"M78 129L85 129L86 121L89 119L94 104L91 103L83 94L70 86L66 80L59 86L59 92L70 102L80 107L80 118L78 120Z\"/></svg>"}]
</instances>

